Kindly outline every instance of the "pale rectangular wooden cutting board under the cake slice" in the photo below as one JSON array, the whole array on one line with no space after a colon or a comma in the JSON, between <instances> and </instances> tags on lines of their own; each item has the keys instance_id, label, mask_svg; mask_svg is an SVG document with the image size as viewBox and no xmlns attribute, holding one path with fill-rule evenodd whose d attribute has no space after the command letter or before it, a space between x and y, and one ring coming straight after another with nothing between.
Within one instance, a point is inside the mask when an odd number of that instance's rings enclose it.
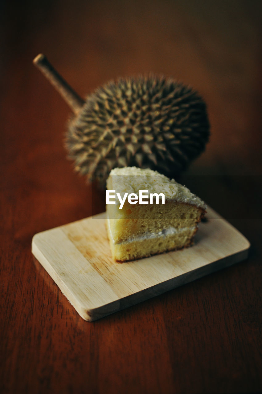
<instances>
[{"instance_id":1,"label":"pale rectangular wooden cutting board under the cake slice","mask_svg":"<svg viewBox=\"0 0 262 394\"><path fill-rule=\"evenodd\" d=\"M195 245L182 251L117 263L103 213L36 234L32 253L91 322L247 258L248 240L211 208L207 212Z\"/></svg>"}]
</instances>

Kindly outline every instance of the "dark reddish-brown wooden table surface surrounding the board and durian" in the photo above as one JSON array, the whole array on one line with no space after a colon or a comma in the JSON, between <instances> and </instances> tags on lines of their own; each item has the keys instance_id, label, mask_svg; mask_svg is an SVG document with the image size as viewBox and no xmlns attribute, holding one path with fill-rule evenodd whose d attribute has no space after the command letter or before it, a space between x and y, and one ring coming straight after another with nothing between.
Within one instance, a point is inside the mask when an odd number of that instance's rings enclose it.
<instances>
[{"instance_id":1,"label":"dark reddish-brown wooden table surface surrounding the board and durian","mask_svg":"<svg viewBox=\"0 0 262 394\"><path fill-rule=\"evenodd\" d=\"M261 2L1 7L0 392L261 392ZM83 97L117 76L149 71L198 89L210 143L180 181L247 237L249 258L82 320L33 258L31 240L102 212L104 196L66 159L70 110L32 65L39 52Z\"/></svg>"}]
</instances>

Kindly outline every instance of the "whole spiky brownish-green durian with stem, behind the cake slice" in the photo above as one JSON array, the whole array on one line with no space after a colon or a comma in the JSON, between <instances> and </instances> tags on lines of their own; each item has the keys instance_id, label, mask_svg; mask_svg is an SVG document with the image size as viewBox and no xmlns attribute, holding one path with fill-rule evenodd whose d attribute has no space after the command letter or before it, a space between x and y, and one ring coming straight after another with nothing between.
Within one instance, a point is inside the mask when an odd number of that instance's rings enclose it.
<instances>
[{"instance_id":1,"label":"whole spiky brownish-green durian with stem, behind the cake slice","mask_svg":"<svg viewBox=\"0 0 262 394\"><path fill-rule=\"evenodd\" d=\"M73 109L66 147L89 182L105 180L114 167L133 165L174 177L204 151L206 104L191 87L163 76L119 78L84 102L45 56L34 63Z\"/></svg>"}]
</instances>

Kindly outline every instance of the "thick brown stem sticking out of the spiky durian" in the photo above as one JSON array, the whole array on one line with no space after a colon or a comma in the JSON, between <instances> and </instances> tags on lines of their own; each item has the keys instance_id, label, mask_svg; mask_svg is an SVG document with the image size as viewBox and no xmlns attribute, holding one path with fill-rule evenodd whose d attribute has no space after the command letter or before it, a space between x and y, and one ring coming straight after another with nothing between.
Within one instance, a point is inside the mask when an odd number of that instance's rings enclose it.
<instances>
[{"instance_id":1,"label":"thick brown stem sticking out of the spiky durian","mask_svg":"<svg viewBox=\"0 0 262 394\"><path fill-rule=\"evenodd\" d=\"M73 112L77 114L84 105L84 100L81 99L56 69L54 69L47 57L43 54L39 54L34 58L33 63L60 93Z\"/></svg>"}]
</instances>

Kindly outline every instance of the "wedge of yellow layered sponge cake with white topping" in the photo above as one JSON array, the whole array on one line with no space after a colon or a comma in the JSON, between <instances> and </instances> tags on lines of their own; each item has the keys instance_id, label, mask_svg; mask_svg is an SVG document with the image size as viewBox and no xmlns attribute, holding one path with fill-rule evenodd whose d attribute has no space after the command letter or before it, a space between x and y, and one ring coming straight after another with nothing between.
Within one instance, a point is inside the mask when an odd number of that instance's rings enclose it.
<instances>
[{"instance_id":1,"label":"wedge of yellow layered sponge cake with white topping","mask_svg":"<svg viewBox=\"0 0 262 394\"><path fill-rule=\"evenodd\" d=\"M107 180L107 232L113 258L136 260L191 245L205 208L185 186L157 171L113 169Z\"/></svg>"}]
</instances>

